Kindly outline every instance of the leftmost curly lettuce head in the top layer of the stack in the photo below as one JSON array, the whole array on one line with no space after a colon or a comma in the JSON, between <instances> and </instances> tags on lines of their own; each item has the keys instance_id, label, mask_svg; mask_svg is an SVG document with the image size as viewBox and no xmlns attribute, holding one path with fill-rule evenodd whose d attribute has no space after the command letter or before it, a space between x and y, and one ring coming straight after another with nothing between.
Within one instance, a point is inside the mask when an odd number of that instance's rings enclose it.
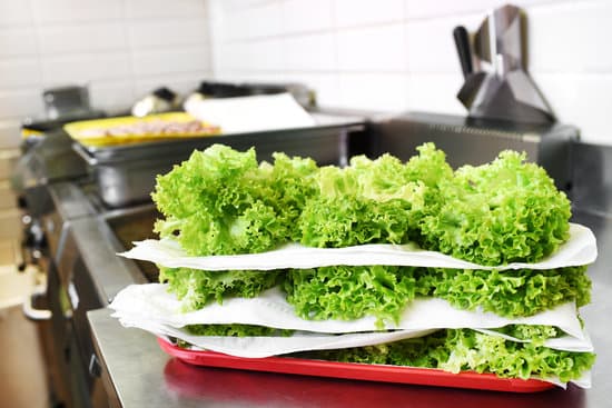
<instances>
[{"instance_id":1,"label":"leftmost curly lettuce head in the top layer of the stack","mask_svg":"<svg viewBox=\"0 0 612 408\"><path fill-rule=\"evenodd\" d=\"M214 145L157 177L151 195L159 211L160 237L174 237L189 255L260 252L287 236L270 198L269 172L255 149L245 152Z\"/></svg>"}]
</instances>

